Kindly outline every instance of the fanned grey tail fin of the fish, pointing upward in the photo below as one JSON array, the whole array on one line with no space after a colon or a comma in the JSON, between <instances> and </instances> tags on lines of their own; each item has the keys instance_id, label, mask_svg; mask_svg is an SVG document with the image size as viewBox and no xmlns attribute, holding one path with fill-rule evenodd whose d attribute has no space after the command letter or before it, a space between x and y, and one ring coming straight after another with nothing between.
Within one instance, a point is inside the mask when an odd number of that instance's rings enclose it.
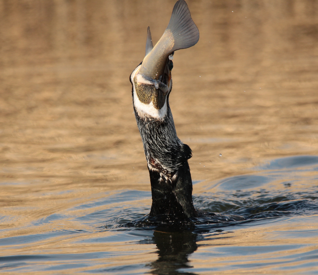
<instances>
[{"instance_id":1,"label":"fanned grey tail fin of the fish, pointing upward","mask_svg":"<svg viewBox=\"0 0 318 275\"><path fill-rule=\"evenodd\" d=\"M173 51L186 49L197 44L199 30L194 24L190 10L184 0L179 0L173 7L167 30L172 32L174 38Z\"/></svg>"}]
</instances>

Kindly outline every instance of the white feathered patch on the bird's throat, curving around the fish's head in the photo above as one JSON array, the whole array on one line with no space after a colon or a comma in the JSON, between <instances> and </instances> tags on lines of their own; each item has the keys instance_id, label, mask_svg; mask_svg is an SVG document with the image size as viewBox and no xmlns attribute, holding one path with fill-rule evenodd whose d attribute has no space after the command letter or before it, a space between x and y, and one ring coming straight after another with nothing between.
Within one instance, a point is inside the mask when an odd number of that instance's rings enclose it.
<instances>
[{"instance_id":1,"label":"white feathered patch on the bird's throat, curving around the fish's head","mask_svg":"<svg viewBox=\"0 0 318 275\"><path fill-rule=\"evenodd\" d=\"M134 107L140 117L151 117L157 120L162 120L163 117L167 114L167 98L165 100L163 107L159 110L157 110L154 107L152 102L150 102L150 104L144 104L138 99L138 96L136 94L136 89L135 89L134 78L139 72L140 67L141 65L139 65L130 75L130 80L133 84L133 91L134 91L134 95L133 95ZM149 84L149 85L152 85L152 84Z\"/></svg>"}]
</instances>

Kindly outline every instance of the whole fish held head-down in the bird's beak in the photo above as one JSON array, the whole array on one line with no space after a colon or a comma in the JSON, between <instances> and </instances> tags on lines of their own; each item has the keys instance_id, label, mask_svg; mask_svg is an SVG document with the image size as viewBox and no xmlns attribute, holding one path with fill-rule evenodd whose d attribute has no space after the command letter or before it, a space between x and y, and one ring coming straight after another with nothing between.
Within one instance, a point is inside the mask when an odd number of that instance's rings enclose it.
<instances>
[{"instance_id":1,"label":"whole fish held head-down in the bird's beak","mask_svg":"<svg viewBox=\"0 0 318 275\"><path fill-rule=\"evenodd\" d=\"M190 48L197 44L199 30L193 22L190 10L184 0L173 7L169 24L162 37L152 44L150 28L147 29L145 57L140 67L133 72L138 99L143 104L153 103L159 110L164 106L167 94L171 91L173 55L176 50Z\"/></svg>"}]
</instances>

